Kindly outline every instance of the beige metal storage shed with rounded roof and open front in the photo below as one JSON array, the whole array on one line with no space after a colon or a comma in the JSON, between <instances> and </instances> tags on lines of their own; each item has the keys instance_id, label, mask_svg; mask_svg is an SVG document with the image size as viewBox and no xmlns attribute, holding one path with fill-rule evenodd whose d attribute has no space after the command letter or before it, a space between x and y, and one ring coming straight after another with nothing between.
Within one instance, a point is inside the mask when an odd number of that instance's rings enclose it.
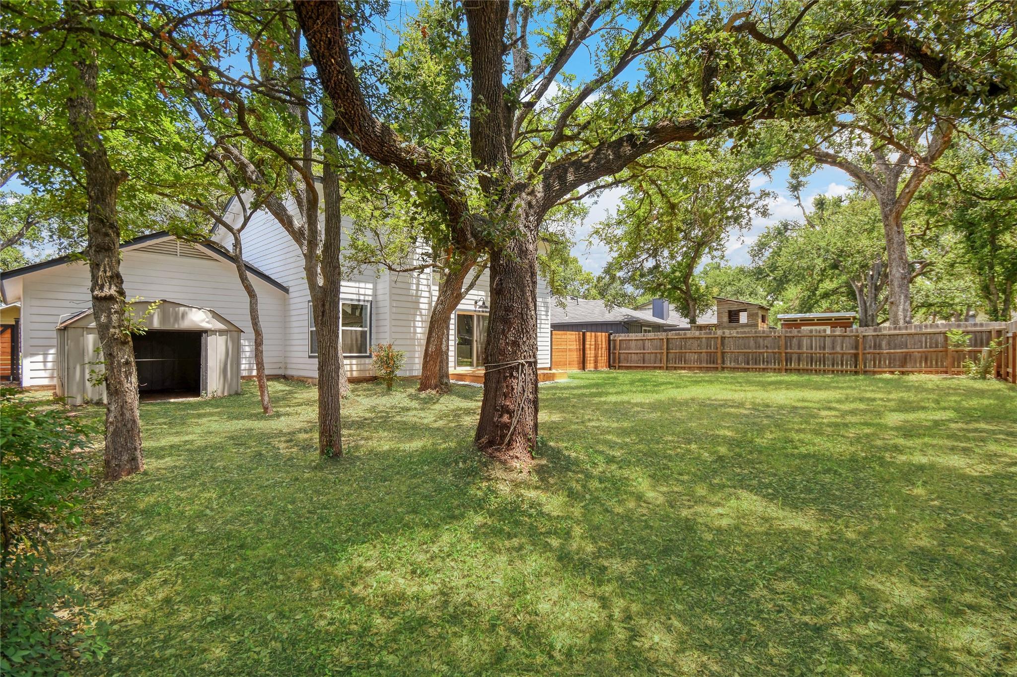
<instances>
[{"instance_id":1,"label":"beige metal storage shed with rounded roof and open front","mask_svg":"<svg viewBox=\"0 0 1017 677\"><path fill-rule=\"evenodd\" d=\"M142 317L151 301L127 304ZM148 330L134 336L138 390L182 396L240 392L240 327L210 308L160 301L144 320ZM57 325L57 394L70 404L105 399L102 384L88 381L102 371L99 334L92 310Z\"/></svg>"}]
</instances>

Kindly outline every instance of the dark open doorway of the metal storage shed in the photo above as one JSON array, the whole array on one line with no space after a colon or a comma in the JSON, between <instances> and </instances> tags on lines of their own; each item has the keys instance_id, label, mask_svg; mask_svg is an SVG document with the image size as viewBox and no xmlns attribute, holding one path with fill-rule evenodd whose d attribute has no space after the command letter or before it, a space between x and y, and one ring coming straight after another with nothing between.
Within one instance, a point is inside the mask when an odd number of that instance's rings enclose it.
<instances>
[{"instance_id":1,"label":"dark open doorway of the metal storage shed","mask_svg":"<svg viewBox=\"0 0 1017 677\"><path fill-rule=\"evenodd\" d=\"M201 394L202 331L152 329L134 336L141 394Z\"/></svg>"}]
</instances>

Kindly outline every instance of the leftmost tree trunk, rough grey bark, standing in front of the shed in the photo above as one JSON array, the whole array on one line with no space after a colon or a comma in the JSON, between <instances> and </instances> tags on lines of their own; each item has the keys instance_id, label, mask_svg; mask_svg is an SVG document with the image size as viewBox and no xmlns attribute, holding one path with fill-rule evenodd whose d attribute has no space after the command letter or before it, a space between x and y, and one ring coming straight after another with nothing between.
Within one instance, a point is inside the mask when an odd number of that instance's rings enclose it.
<instances>
[{"instance_id":1,"label":"leftmost tree trunk, rough grey bark, standing in front of the shed","mask_svg":"<svg viewBox=\"0 0 1017 677\"><path fill-rule=\"evenodd\" d=\"M124 177L115 172L96 124L95 52L75 61L79 89L67 100L74 147L84 168L88 195L88 271L92 308L106 363L106 479L118 480L144 470L141 424L137 411L137 368L134 345L125 316L124 281L120 275L120 228L117 187Z\"/></svg>"}]
</instances>

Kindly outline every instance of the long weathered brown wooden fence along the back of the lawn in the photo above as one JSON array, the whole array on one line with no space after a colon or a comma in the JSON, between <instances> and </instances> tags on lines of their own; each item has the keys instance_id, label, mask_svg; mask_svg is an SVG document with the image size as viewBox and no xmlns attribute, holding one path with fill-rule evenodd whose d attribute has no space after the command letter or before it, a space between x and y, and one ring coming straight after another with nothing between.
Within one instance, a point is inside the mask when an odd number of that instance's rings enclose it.
<instances>
[{"instance_id":1,"label":"long weathered brown wooden fence along the back of the lawn","mask_svg":"<svg viewBox=\"0 0 1017 677\"><path fill-rule=\"evenodd\" d=\"M951 349L949 329L970 335L970 347ZM618 369L959 374L966 357L973 358L1001 336L1009 346L996 360L996 376L1017 382L1017 322L907 324L829 332L807 328L614 334L611 353Z\"/></svg>"}]
</instances>

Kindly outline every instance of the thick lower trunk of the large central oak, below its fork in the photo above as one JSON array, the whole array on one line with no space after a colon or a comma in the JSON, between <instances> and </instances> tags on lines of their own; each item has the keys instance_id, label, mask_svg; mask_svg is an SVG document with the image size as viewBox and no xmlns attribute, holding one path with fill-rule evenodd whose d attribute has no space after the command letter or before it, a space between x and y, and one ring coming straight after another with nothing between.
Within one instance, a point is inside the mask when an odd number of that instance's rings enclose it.
<instances>
[{"instance_id":1,"label":"thick lower trunk of the large central oak, below its fork","mask_svg":"<svg viewBox=\"0 0 1017 677\"><path fill-rule=\"evenodd\" d=\"M527 466L537 443L537 228L491 254L491 313L484 399L474 443L491 458Z\"/></svg>"}]
</instances>

